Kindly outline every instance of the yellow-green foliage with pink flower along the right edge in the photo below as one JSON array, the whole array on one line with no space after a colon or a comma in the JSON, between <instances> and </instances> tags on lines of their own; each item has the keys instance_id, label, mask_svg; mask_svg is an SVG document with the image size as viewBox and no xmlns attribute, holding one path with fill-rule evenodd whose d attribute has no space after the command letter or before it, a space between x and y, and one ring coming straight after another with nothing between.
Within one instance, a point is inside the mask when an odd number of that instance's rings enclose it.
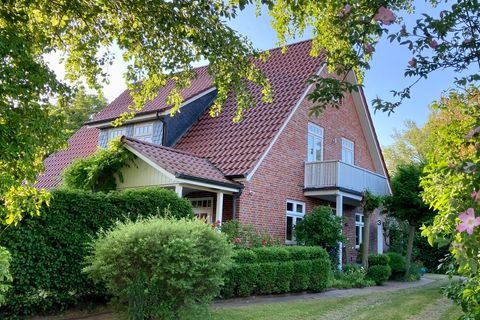
<instances>
[{"instance_id":1,"label":"yellow-green foliage with pink flower along the right edge","mask_svg":"<svg viewBox=\"0 0 480 320\"><path fill-rule=\"evenodd\" d=\"M460 294L465 319L480 317L480 91L451 93L434 107L439 111L428 142L425 201L438 214L422 234L431 244L451 242L450 252L465 277ZM474 215L477 215L475 218ZM468 228L465 228L468 227Z\"/></svg>"}]
</instances>

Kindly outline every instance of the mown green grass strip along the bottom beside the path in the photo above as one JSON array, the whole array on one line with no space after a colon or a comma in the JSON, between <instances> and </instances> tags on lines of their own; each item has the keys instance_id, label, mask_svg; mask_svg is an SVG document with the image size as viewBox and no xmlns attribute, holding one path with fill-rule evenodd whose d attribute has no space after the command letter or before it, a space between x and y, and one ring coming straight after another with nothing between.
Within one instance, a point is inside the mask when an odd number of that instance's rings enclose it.
<instances>
[{"instance_id":1,"label":"mown green grass strip along the bottom beside the path","mask_svg":"<svg viewBox=\"0 0 480 320\"><path fill-rule=\"evenodd\" d=\"M210 319L456 319L461 314L460 309L440 292L444 284L443 281L436 281L420 288L396 292L221 307L212 311Z\"/></svg>"}]
</instances>

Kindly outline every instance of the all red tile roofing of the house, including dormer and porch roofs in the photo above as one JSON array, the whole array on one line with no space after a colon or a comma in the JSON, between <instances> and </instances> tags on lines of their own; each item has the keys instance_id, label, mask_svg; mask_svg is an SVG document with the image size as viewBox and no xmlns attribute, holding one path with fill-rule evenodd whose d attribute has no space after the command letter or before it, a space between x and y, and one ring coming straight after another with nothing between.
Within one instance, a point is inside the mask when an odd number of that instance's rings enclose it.
<instances>
[{"instance_id":1,"label":"all red tile roofing of the house, including dormer and porch roofs","mask_svg":"<svg viewBox=\"0 0 480 320\"><path fill-rule=\"evenodd\" d=\"M255 95L256 106L245 113L244 120L240 123L233 123L236 104L235 98L230 95L219 117L211 118L208 113L205 113L175 146L176 154L182 154L183 160L176 163L164 159L162 160L164 164L170 166L172 172L230 184L232 181L225 178L223 174L237 176L248 173L265 152L304 93L309 77L320 68L322 59L312 58L309 55L310 48L311 42L304 41L289 45L286 54L281 54L280 49L271 50L270 58L266 62L258 62L257 65L270 79L273 103L263 103L260 99L261 89L252 86L251 91ZM212 79L208 75L207 67L197 68L196 72L197 79L182 93L185 100L212 87ZM141 113L168 109L165 99L172 85L173 83L169 82L162 88L159 95L148 102ZM97 114L90 123L114 119L128 111L131 101L130 94L126 90ZM37 186L48 189L59 186L63 169L74 159L86 157L95 152L98 134L98 129L82 127L69 140L67 150L60 151L45 160L45 172L39 177ZM167 148L161 149L167 150ZM151 148L148 150L153 152ZM172 149L169 150L173 152ZM193 164L186 159L193 161ZM179 167L180 164L181 167ZM198 171L198 168L201 170Z\"/></svg>"}]
</instances>

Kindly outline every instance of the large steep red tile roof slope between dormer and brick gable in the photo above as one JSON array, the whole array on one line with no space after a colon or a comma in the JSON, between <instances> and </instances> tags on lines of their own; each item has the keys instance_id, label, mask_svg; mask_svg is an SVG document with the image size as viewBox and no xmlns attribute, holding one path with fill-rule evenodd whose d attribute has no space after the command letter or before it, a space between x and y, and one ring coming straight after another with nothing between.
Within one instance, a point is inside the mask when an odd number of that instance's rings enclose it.
<instances>
[{"instance_id":1,"label":"large steep red tile roof slope between dormer and brick gable","mask_svg":"<svg viewBox=\"0 0 480 320\"><path fill-rule=\"evenodd\" d=\"M230 95L217 118L208 113L192 126L175 146L206 157L227 176L247 174L259 160L307 88L322 59L309 55L311 42L304 41L270 51L267 62L257 65L267 75L273 88L273 103L263 103L260 88L252 88L255 107L245 113L240 123L233 123L235 98Z\"/></svg>"}]
</instances>

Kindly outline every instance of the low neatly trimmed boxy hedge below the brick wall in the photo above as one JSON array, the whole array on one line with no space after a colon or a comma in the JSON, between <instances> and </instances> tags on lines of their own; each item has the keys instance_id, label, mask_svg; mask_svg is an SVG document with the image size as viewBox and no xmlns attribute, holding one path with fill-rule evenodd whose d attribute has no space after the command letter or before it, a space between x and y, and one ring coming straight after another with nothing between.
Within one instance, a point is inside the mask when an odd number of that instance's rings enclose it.
<instances>
[{"instance_id":1,"label":"low neatly trimmed boxy hedge below the brick wall","mask_svg":"<svg viewBox=\"0 0 480 320\"><path fill-rule=\"evenodd\" d=\"M236 250L222 297L321 291L333 278L321 247L261 247Z\"/></svg>"}]
</instances>

